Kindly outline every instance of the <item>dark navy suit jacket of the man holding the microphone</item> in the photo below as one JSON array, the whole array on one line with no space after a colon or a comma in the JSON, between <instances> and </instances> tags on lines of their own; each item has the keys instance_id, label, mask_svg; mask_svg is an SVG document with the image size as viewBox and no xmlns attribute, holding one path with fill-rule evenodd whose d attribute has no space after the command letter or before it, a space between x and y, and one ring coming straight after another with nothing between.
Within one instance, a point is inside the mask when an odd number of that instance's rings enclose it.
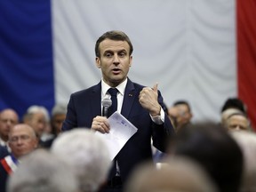
<instances>
[{"instance_id":1,"label":"dark navy suit jacket of the man holding the microphone","mask_svg":"<svg viewBox=\"0 0 256 192\"><path fill-rule=\"evenodd\" d=\"M153 144L161 151L165 150L166 141L174 132L170 119L165 114L164 124L155 124L149 116L148 110L141 107L139 94L143 86L132 83L128 79L121 114L138 128L124 148L117 154L116 160L120 167L122 180L126 180L134 166L142 161L152 159L151 137ZM158 101L165 109L161 93L158 92ZM71 94L68 102L68 113L63 123L62 131L76 127L91 128L92 119L101 116L101 84Z\"/></svg>"}]
</instances>

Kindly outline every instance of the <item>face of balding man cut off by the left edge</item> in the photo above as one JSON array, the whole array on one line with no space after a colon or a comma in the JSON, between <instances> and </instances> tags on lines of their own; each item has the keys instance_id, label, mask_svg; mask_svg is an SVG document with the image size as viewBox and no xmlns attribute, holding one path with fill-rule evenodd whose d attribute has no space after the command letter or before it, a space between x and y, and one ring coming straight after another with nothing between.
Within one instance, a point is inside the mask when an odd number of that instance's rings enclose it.
<instances>
[{"instance_id":1,"label":"face of balding man cut off by the left edge","mask_svg":"<svg viewBox=\"0 0 256 192\"><path fill-rule=\"evenodd\" d=\"M11 109L4 110L0 115L0 135L7 141L10 129L18 124L18 115Z\"/></svg>"}]
</instances>

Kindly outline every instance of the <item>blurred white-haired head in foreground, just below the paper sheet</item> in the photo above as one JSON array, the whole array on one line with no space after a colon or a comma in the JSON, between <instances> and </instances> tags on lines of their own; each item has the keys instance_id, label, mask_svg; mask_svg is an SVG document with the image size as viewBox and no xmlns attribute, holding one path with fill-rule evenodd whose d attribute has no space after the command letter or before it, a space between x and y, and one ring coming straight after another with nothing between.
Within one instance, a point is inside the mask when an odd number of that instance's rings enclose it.
<instances>
[{"instance_id":1,"label":"blurred white-haired head in foreground, just below the paper sheet","mask_svg":"<svg viewBox=\"0 0 256 192\"><path fill-rule=\"evenodd\" d=\"M111 159L104 140L89 129L73 129L52 143L52 153L71 164L82 192L95 192L107 180Z\"/></svg>"}]
</instances>

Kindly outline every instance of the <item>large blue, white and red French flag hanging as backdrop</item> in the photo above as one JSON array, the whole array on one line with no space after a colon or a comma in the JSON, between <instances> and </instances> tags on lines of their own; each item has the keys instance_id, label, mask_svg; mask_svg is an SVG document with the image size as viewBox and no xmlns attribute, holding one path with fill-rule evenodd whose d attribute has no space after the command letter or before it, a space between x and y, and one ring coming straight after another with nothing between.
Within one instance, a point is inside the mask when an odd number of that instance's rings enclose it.
<instances>
[{"instance_id":1,"label":"large blue, white and red French flag hanging as backdrop","mask_svg":"<svg viewBox=\"0 0 256 192\"><path fill-rule=\"evenodd\" d=\"M255 10L254 0L0 1L0 110L51 112L97 84L95 42L117 29L134 46L132 81L158 83L167 106L188 100L194 121L220 121L238 97L255 128Z\"/></svg>"}]
</instances>

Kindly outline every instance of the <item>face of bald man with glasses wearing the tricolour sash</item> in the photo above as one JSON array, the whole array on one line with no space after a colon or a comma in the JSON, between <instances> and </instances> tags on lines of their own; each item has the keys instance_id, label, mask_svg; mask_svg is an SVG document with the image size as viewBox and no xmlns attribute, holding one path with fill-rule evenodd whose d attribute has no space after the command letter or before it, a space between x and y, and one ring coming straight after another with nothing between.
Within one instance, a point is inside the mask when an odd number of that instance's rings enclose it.
<instances>
[{"instance_id":1,"label":"face of bald man with glasses wearing the tricolour sash","mask_svg":"<svg viewBox=\"0 0 256 192\"><path fill-rule=\"evenodd\" d=\"M15 125L9 135L9 146L15 157L26 155L37 147L37 139L33 128L28 124Z\"/></svg>"}]
</instances>

